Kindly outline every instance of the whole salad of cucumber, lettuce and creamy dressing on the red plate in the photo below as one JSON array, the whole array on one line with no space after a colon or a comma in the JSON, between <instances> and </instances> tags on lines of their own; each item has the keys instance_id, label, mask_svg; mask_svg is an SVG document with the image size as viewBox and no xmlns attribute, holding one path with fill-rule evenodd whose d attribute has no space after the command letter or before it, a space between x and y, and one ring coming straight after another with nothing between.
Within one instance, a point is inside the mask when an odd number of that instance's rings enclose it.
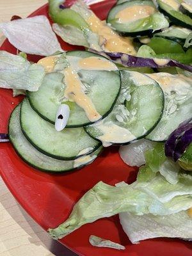
<instances>
[{"instance_id":1,"label":"whole salad of cucumber, lettuce and creamy dressing on the red plate","mask_svg":"<svg viewBox=\"0 0 192 256\"><path fill-rule=\"evenodd\" d=\"M53 24L44 15L0 24L18 49L0 51L0 87L26 95L0 140L44 172L82 168L111 145L138 166L132 184L95 184L67 220L49 228L52 238L119 214L132 243L190 240L191 3L119 0L100 20L84 2L49 0ZM84 49L65 51L56 35ZM41 57L32 63L28 54ZM94 235L90 243L125 250Z\"/></svg>"}]
</instances>

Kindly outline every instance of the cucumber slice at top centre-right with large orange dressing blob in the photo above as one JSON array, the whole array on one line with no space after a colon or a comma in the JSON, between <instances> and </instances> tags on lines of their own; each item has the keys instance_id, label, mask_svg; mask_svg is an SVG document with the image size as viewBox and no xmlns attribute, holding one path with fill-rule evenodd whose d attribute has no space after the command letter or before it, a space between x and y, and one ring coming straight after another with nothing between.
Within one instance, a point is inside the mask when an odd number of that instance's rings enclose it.
<instances>
[{"instance_id":1,"label":"cucumber slice at top centre-right with large orange dressing blob","mask_svg":"<svg viewBox=\"0 0 192 256\"><path fill-rule=\"evenodd\" d=\"M169 26L168 20L150 0L125 1L113 6L107 22L125 36L148 35Z\"/></svg>"}]
</instances>

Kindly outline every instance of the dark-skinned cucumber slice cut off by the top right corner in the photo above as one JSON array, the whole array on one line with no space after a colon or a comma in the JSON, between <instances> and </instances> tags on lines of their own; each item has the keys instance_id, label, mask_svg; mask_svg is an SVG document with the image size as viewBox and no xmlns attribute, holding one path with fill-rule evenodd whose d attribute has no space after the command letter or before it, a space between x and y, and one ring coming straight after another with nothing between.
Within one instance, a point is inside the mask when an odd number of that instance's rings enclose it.
<instances>
[{"instance_id":1,"label":"dark-skinned cucumber slice cut off by the top right corner","mask_svg":"<svg viewBox=\"0 0 192 256\"><path fill-rule=\"evenodd\" d=\"M175 0L178 3L178 8L173 8L171 4L166 4L164 1L157 0L159 4L159 10L164 13L175 25L183 26L184 28L191 29L192 19L185 15L182 12L179 12L179 1Z\"/></svg>"}]
</instances>

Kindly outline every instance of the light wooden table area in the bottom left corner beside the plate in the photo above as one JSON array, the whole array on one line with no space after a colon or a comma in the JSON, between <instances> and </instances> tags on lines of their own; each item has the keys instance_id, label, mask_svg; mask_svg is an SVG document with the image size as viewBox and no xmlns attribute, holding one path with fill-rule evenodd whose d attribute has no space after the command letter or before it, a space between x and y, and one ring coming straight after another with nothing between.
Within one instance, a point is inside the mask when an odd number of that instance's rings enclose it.
<instances>
[{"instance_id":1,"label":"light wooden table area in the bottom left corner beside the plate","mask_svg":"<svg viewBox=\"0 0 192 256\"><path fill-rule=\"evenodd\" d=\"M0 178L0 256L75 256L49 237L15 201Z\"/></svg>"}]
</instances>

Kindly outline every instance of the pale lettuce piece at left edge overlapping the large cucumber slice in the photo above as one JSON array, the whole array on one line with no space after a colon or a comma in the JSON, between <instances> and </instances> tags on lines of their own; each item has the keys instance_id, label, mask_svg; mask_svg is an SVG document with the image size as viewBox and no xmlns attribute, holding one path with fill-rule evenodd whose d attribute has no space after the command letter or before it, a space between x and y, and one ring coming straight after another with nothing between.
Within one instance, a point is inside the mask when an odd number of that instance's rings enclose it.
<instances>
[{"instance_id":1,"label":"pale lettuce piece at left edge overlapping the large cucumber slice","mask_svg":"<svg viewBox=\"0 0 192 256\"><path fill-rule=\"evenodd\" d=\"M45 76L44 67L0 51L0 87L36 92Z\"/></svg>"}]
</instances>

